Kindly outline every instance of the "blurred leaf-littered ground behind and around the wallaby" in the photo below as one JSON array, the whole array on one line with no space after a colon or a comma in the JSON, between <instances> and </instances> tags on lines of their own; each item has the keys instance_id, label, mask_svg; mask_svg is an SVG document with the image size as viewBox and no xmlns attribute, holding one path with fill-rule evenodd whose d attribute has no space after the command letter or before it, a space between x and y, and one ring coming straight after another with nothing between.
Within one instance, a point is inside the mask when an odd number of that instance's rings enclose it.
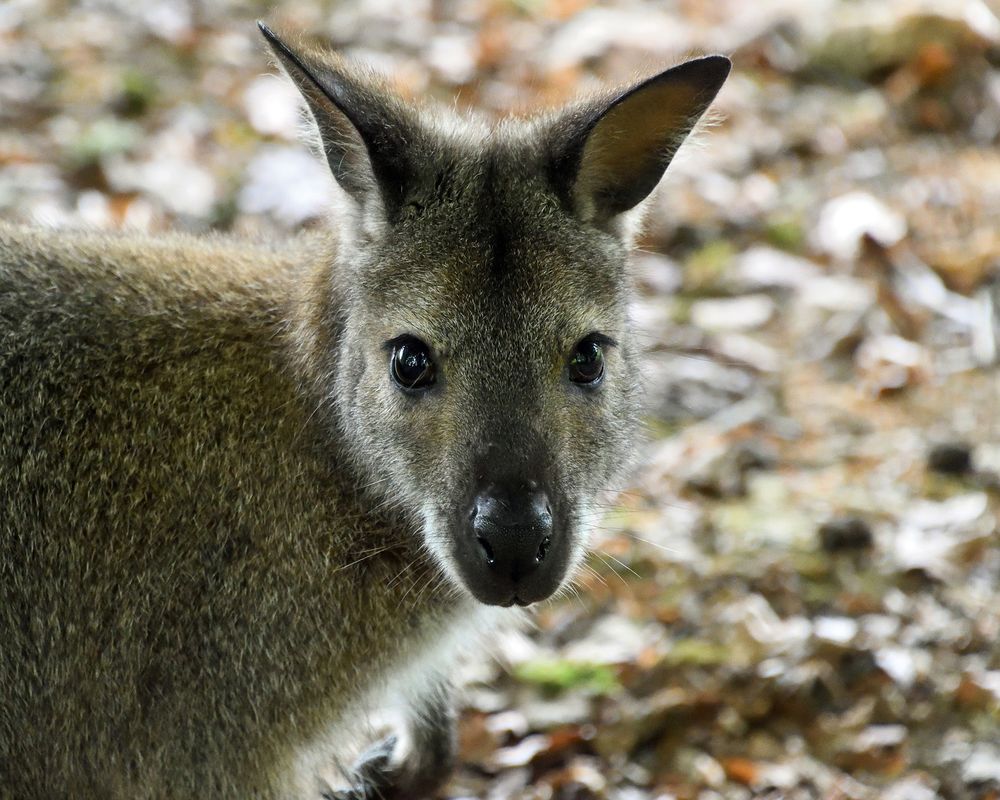
<instances>
[{"instance_id":1,"label":"blurred leaf-littered ground behind and around the wallaby","mask_svg":"<svg viewBox=\"0 0 1000 800\"><path fill-rule=\"evenodd\" d=\"M734 55L636 259L648 444L443 797L1000 798L997 0L0 1L0 216L274 237L253 22L488 114Z\"/></svg>"}]
</instances>

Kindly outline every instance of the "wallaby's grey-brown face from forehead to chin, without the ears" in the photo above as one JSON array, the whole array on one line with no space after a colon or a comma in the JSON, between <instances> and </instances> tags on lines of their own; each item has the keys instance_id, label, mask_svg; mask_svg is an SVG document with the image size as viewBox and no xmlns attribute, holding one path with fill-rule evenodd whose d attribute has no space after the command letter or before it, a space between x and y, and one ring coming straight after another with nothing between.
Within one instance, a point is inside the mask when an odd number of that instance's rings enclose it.
<instances>
[{"instance_id":1,"label":"wallaby's grey-brown face from forehead to chin, without the ears","mask_svg":"<svg viewBox=\"0 0 1000 800\"><path fill-rule=\"evenodd\" d=\"M444 201L386 233L335 383L372 473L502 605L548 597L580 559L636 416L623 247L560 212L530 155L456 158Z\"/></svg>"}]
</instances>

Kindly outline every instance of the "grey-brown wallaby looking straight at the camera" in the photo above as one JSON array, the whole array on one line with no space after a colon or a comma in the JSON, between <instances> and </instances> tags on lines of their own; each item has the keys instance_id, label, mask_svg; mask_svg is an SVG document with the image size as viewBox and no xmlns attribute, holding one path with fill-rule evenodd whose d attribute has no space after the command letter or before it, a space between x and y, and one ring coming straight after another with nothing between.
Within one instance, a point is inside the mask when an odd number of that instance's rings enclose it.
<instances>
[{"instance_id":1,"label":"grey-brown wallaby looking straight at the camera","mask_svg":"<svg viewBox=\"0 0 1000 800\"><path fill-rule=\"evenodd\" d=\"M260 27L327 232L0 227L3 798L433 794L456 652L571 579L634 446L636 215L729 60L490 125Z\"/></svg>"}]
</instances>

